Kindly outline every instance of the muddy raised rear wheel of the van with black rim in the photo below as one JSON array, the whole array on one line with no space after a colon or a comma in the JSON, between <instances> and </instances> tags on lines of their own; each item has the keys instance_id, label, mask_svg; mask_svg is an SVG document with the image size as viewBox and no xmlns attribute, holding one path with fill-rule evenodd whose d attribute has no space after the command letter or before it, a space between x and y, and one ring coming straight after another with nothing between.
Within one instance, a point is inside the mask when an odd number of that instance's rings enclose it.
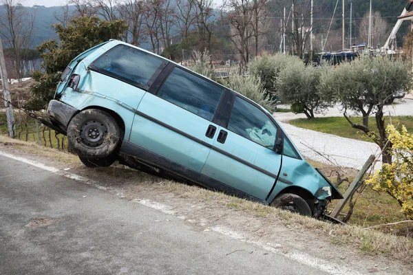
<instances>
[{"instance_id":1,"label":"muddy raised rear wheel of the van with black rim","mask_svg":"<svg viewBox=\"0 0 413 275\"><path fill-rule=\"evenodd\" d=\"M109 113L87 109L70 120L67 140L79 157L105 159L114 154L120 142L120 130Z\"/></svg>"}]
</instances>

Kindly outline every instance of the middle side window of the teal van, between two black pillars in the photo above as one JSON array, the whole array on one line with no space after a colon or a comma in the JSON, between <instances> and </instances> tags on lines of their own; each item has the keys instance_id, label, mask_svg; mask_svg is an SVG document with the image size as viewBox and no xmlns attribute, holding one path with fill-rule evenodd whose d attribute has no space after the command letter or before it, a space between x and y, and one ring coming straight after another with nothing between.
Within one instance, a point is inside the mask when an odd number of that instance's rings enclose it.
<instances>
[{"instance_id":1,"label":"middle side window of the teal van, between two black pillars","mask_svg":"<svg viewBox=\"0 0 413 275\"><path fill-rule=\"evenodd\" d=\"M158 96L179 107L212 120L224 90L207 80L175 67Z\"/></svg>"}]
</instances>

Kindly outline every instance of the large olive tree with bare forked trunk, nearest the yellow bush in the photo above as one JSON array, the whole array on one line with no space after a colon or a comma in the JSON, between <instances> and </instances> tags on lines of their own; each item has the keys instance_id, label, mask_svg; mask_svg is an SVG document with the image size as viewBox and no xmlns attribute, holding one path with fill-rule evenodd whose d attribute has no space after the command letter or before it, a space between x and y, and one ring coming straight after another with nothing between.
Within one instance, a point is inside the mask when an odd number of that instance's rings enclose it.
<instances>
[{"instance_id":1,"label":"large olive tree with bare forked trunk, nearest the yellow bush","mask_svg":"<svg viewBox=\"0 0 413 275\"><path fill-rule=\"evenodd\" d=\"M391 142L385 132L383 107L396 91L408 90L412 83L411 68L399 59L388 56L361 56L321 76L320 91L343 107L343 115L354 129L366 133L383 151L383 162L391 163ZM363 124L354 123L348 111L361 113ZM377 131L370 124L374 114Z\"/></svg>"}]
</instances>

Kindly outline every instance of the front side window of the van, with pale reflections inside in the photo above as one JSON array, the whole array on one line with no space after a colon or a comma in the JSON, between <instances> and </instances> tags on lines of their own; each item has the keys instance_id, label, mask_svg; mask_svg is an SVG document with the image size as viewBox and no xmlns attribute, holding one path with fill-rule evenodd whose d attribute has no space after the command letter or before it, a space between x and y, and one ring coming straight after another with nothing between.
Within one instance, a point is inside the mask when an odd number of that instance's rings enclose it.
<instances>
[{"instance_id":1,"label":"front side window of the van, with pale reflections inside","mask_svg":"<svg viewBox=\"0 0 413 275\"><path fill-rule=\"evenodd\" d=\"M277 127L264 111L238 96L235 97L227 128L268 149L274 148Z\"/></svg>"}]
</instances>

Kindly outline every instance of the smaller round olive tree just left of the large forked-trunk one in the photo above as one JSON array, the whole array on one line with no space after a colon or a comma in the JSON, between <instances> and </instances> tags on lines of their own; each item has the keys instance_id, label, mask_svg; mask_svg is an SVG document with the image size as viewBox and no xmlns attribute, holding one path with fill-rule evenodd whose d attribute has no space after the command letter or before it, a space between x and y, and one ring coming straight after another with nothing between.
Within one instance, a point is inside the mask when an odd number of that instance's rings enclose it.
<instances>
[{"instance_id":1,"label":"smaller round olive tree just left of the large forked-trunk one","mask_svg":"<svg viewBox=\"0 0 413 275\"><path fill-rule=\"evenodd\" d=\"M288 63L277 78L277 89L282 101L292 104L295 113L304 113L312 120L315 112L330 106L318 89L321 72L325 69L325 66L306 67L302 62Z\"/></svg>"}]
</instances>

